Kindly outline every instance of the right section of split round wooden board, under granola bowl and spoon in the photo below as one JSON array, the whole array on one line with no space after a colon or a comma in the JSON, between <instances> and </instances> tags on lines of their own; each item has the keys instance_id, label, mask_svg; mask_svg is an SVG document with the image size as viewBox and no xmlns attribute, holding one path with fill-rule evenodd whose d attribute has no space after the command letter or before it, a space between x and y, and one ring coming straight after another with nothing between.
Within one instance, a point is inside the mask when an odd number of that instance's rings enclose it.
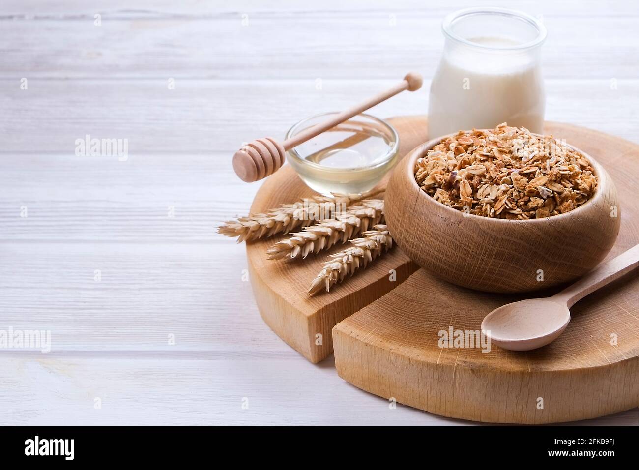
<instances>
[{"instance_id":1,"label":"right section of split round wooden board, under granola bowl and spoon","mask_svg":"<svg viewBox=\"0 0 639 470\"><path fill-rule=\"evenodd\" d=\"M637 244L636 185L626 182L639 175L639 146L569 125L550 123L547 129L597 155L619 187L620 205L627 210L609 256ZM560 340L541 349L511 352L493 345L486 354L477 347L438 345L440 331L479 331L490 311L525 298L469 290L418 270L335 327L337 372L400 403L492 423L572 421L639 405L636 271L575 304ZM540 397L543 409L537 408Z\"/></svg>"}]
</instances>

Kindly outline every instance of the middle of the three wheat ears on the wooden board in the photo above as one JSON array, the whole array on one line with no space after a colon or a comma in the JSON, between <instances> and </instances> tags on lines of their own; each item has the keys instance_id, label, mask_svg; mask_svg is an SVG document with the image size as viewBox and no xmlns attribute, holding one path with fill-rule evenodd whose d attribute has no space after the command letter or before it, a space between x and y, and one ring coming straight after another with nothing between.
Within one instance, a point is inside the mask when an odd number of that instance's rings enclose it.
<instances>
[{"instance_id":1,"label":"middle of the three wheat ears on the wooden board","mask_svg":"<svg viewBox=\"0 0 639 470\"><path fill-rule=\"evenodd\" d=\"M266 253L270 260L296 258L309 253L319 253L332 247L335 243L350 240L369 227L383 222L384 201L371 199L361 201L361 205L351 206L346 212L335 214L335 219L321 221L316 225L305 227L304 231L293 233L293 237L273 245Z\"/></svg>"}]
</instances>

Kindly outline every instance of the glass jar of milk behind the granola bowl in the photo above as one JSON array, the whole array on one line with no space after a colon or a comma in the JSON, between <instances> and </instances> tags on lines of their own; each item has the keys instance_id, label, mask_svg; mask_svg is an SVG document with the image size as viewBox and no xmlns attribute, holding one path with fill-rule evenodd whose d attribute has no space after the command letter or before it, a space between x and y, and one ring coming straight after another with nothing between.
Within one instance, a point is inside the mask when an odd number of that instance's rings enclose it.
<instances>
[{"instance_id":1,"label":"glass jar of milk behind the granola bowl","mask_svg":"<svg viewBox=\"0 0 639 470\"><path fill-rule=\"evenodd\" d=\"M445 17L442 31L443 55L428 104L429 137L502 122L541 133L543 24L505 8L468 8Z\"/></svg>"}]
</instances>

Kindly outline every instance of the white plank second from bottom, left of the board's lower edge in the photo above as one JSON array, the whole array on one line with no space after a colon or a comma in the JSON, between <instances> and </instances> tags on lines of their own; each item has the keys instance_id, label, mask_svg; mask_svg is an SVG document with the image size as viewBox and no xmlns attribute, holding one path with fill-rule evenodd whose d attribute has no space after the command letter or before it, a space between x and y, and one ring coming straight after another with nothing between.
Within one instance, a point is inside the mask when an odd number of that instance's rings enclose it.
<instances>
[{"instance_id":1,"label":"white plank second from bottom, left of the board's lower edge","mask_svg":"<svg viewBox=\"0 0 639 470\"><path fill-rule=\"evenodd\" d=\"M298 357L261 320L244 247L231 240L0 244L0 253L0 329L50 331L53 352Z\"/></svg>"}]
</instances>

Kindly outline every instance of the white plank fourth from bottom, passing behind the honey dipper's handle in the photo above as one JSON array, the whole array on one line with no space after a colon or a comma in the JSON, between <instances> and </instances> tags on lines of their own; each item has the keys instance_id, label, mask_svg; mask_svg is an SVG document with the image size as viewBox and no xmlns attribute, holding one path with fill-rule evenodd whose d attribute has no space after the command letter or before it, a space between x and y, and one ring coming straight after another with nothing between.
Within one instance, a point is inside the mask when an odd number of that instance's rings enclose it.
<instances>
[{"instance_id":1,"label":"white plank fourth from bottom, passing behind the honey dipper's handle","mask_svg":"<svg viewBox=\"0 0 639 470\"><path fill-rule=\"evenodd\" d=\"M401 77L397 73L397 78ZM296 121L335 111L383 90L396 80L297 81L165 80L0 81L1 152L64 152L75 140L128 139L128 153L221 153L225 164L243 141L284 137ZM631 116L639 106L639 80L547 79L546 118L567 121L639 141ZM401 93L371 110L380 117L426 114L429 82L415 93ZM176 157L177 158L177 157ZM113 158L115 161L116 159ZM0 175L0 178L3 176Z\"/></svg>"}]
</instances>

